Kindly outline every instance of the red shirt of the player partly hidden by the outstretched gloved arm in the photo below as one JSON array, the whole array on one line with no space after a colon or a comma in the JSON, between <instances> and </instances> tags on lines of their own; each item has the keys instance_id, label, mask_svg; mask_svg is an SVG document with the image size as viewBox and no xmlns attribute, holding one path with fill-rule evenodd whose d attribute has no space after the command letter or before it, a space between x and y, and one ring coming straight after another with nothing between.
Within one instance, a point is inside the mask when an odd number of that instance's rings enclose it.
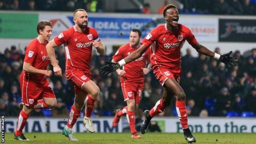
<instances>
[{"instance_id":1,"label":"red shirt of the player partly hidden by the outstretched gloved arm","mask_svg":"<svg viewBox=\"0 0 256 144\"><path fill-rule=\"evenodd\" d=\"M138 47L139 48L139 47ZM129 54L137 50L138 48L133 48L130 43L122 45L119 47L115 55L113 55L114 61L118 62L119 60L127 57ZM145 68L147 61L150 60L150 49L141 55L140 58L134 60L130 63L127 63L123 66L123 70L126 72L124 76L121 77L121 81L124 79L126 81L135 81L143 82L144 74L141 68Z\"/></svg>"}]
</instances>

